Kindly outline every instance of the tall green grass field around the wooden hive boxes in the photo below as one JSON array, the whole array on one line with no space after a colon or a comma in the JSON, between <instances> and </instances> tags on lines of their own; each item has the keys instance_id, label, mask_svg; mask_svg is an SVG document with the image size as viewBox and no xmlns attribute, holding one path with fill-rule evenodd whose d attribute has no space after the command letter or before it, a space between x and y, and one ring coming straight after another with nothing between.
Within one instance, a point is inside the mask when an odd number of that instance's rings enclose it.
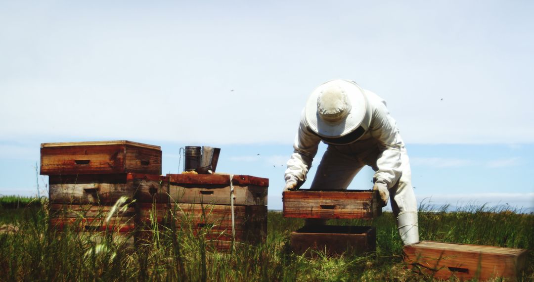
<instances>
[{"instance_id":1,"label":"tall green grass field around the wooden hive boxes","mask_svg":"<svg viewBox=\"0 0 534 282\"><path fill-rule=\"evenodd\" d=\"M28 201L29 202L29 201ZM331 221L339 225L372 225L376 252L315 259L289 251L289 233L303 225L299 219L269 212L268 237L257 247L239 246L219 253L203 235L159 229L153 240L134 248L108 233L95 240L87 234L57 233L48 224L43 205L11 209L0 205L0 280L156 280L156 281L428 281L429 275L407 270L395 221L384 213L373 221ZM20 204L19 204L20 206ZM520 281L534 280L534 215L513 210L476 207L419 213L421 240L459 242L529 250ZM15 229L16 228L16 229ZM454 279L452 279L454 280ZM496 279L499 280L499 279Z\"/></svg>"}]
</instances>

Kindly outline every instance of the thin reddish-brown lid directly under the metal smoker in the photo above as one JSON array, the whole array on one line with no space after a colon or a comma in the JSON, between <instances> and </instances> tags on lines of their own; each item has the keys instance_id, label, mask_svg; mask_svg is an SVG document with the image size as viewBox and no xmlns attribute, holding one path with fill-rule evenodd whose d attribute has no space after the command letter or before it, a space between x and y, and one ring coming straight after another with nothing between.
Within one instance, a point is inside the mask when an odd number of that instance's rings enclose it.
<instances>
[{"instance_id":1,"label":"thin reddish-brown lid directly under the metal smoker","mask_svg":"<svg viewBox=\"0 0 534 282\"><path fill-rule=\"evenodd\" d=\"M230 185L230 175L225 174L167 174L171 184L215 184ZM232 178L233 185L257 185L269 186L268 178L261 178L250 175L234 175Z\"/></svg>"}]
</instances>

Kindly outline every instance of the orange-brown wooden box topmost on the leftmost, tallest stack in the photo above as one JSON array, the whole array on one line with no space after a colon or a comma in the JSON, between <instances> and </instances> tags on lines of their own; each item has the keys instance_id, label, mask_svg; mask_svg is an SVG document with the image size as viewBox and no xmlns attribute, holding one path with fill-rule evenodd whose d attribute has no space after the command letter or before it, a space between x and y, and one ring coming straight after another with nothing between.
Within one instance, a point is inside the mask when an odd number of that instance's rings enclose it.
<instances>
[{"instance_id":1,"label":"orange-brown wooden box topmost on the leftmost, tallest stack","mask_svg":"<svg viewBox=\"0 0 534 282\"><path fill-rule=\"evenodd\" d=\"M130 142L41 144L42 175L161 174L161 147Z\"/></svg>"}]
</instances>

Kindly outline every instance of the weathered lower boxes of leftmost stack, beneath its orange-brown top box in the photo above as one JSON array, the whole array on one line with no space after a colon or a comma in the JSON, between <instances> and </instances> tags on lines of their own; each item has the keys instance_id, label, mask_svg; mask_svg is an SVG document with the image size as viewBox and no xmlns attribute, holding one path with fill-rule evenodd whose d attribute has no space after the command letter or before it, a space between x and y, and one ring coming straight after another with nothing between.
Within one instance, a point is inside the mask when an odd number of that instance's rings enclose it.
<instances>
[{"instance_id":1,"label":"weathered lower boxes of leftmost stack, beneath its orange-brown top box","mask_svg":"<svg viewBox=\"0 0 534 282\"><path fill-rule=\"evenodd\" d=\"M127 198L127 209L112 213L121 197ZM51 175L49 200L51 224L59 230L70 225L75 231L136 231L137 239L148 238L153 224L162 225L167 217L168 178L132 173Z\"/></svg>"}]
</instances>

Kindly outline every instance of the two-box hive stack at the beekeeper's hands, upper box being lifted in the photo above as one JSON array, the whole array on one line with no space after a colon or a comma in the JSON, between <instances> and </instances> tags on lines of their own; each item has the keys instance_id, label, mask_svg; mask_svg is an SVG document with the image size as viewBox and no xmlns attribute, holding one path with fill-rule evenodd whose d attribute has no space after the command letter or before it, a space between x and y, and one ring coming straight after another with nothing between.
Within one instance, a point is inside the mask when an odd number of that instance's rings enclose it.
<instances>
[{"instance_id":1,"label":"two-box hive stack at the beekeeper's hands, upper box being lifted","mask_svg":"<svg viewBox=\"0 0 534 282\"><path fill-rule=\"evenodd\" d=\"M331 190L287 191L282 194L284 216L297 218L359 218L371 220L382 214L376 191ZM290 234L295 253L314 255L310 250L327 255L344 252L365 253L376 248L376 231L371 226L304 226Z\"/></svg>"}]
</instances>

